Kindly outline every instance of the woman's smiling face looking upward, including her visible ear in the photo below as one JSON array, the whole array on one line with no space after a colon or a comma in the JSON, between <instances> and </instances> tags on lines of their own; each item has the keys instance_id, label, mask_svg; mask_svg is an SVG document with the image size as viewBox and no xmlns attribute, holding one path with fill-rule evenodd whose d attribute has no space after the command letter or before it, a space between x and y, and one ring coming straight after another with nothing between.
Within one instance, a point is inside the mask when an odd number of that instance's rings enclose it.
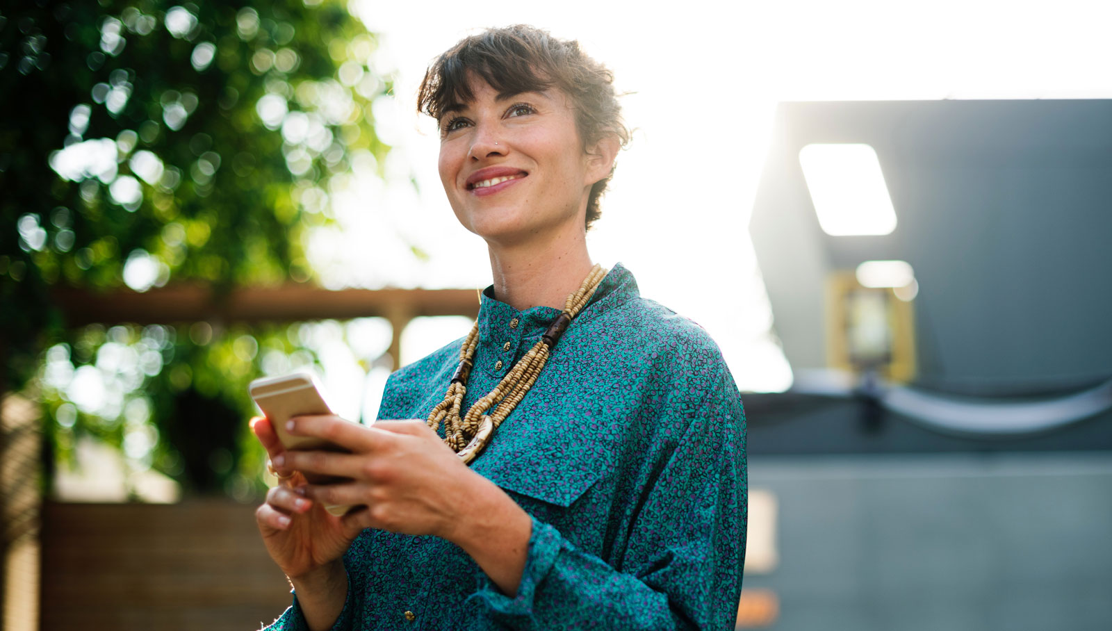
<instances>
[{"instance_id":1,"label":"woman's smiling face looking upward, including her visible ear","mask_svg":"<svg viewBox=\"0 0 1112 631\"><path fill-rule=\"evenodd\" d=\"M582 230L590 186L610 162L584 151L570 100L558 89L471 88L475 100L439 121L440 181L459 222L505 246Z\"/></svg>"}]
</instances>

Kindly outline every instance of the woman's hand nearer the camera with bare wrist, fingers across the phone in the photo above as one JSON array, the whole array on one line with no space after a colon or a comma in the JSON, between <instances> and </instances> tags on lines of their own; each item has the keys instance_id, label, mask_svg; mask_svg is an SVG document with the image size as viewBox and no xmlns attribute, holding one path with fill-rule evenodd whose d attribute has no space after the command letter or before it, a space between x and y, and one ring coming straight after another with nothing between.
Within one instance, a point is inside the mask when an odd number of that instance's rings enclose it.
<instances>
[{"instance_id":1,"label":"woman's hand nearer the camera with bare wrist, fingers across the phone","mask_svg":"<svg viewBox=\"0 0 1112 631\"><path fill-rule=\"evenodd\" d=\"M357 425L339 417L298 417L294 435L334 442L350 453L287 451L276 467L349 478L308 484L324 504L361 505L345 524L406 534L434 534L459 545L503 592L517 593L533 521L494 482L479 475L424 421Z\"/></svg>"}]
</instances>

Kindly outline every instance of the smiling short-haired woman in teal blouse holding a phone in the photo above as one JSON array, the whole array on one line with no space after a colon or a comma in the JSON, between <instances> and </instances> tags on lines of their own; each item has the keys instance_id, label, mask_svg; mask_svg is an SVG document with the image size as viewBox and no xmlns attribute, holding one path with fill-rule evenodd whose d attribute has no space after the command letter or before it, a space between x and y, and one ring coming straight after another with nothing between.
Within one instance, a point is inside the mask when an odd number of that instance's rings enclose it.
<instances>
[{"instance_id":1,"label":"smiling short-haired woman in teal blouse holding a phone","mask_svg":"<svg viewBox=\"0 0 1112 631\"><path fill-rule=\"evenodd\" d=\"M733 629L737 388L701 328L587 253L628 139L609 71L494 29L434 62L418 109L494 284L471 334L390 377L379 417L425 420L290 422L350 453L284 451L254 423L281 480L259 529L295 588L271 628Z\"/></svg>"}]
</instances>

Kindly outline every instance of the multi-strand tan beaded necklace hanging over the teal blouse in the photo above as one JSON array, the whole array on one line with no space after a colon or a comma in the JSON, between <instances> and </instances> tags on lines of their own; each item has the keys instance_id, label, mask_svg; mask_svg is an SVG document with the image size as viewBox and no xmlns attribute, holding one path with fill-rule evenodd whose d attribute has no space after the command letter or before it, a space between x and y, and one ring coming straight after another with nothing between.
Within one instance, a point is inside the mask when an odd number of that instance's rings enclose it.
<instances>
[{"instance_id":1,"label":"multi-strand tan beaded necklace hanging over the teal blouse","mask_svg":"<svg viewBox=\"0 0 1112 631\"><path fill-rule=\"evenodd\" d=\"M514 364L514 368L506 373L506 377L502 378L502 381L495 385L489 394L476 401L467 410L467 414L460 417L464 394L467 393L467 379L471 374L475 349L479 343L479 323L476 321L475 325L471 327L471 331L464 340L463 348L459 349L459 367L451 375L448 392L445 393L444 401L433 408L426 421L434 431L439 429L441 422L445 424L444 442L465 463L475 460L479 452L490 443L494 430L498 429L498 425L525 398L540 374L540 370L545 367L548 354L556 347L556 342L564 335L572 319L595 294L595 290L598 289L606 272L607 270L600 266L590 268L590 272L583 280L579 290L567 297L564 302L564 311L553 320L545 333L540 335L540 340Z\"/></svg>"}]
</instances>

